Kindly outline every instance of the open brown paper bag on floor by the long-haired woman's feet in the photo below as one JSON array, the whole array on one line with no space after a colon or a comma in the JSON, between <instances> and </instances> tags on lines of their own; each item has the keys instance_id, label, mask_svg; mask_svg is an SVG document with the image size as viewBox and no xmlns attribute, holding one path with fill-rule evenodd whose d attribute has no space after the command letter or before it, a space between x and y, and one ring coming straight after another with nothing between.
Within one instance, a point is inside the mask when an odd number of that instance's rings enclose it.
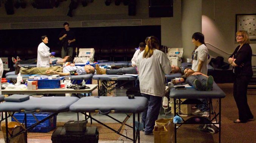
<instances>
[{"instance_id":1,"label":"open brown paper bag on floor by the long-haired woman's feet","mask_svg":"<svg viewBox=\"0 0 256 143\"><path fill-rule=\"evenodd\" d=\"M173 119L158 119L155 121L154 143L173 143L174 142L174 123Z\"/></svg>"}]
</instances>

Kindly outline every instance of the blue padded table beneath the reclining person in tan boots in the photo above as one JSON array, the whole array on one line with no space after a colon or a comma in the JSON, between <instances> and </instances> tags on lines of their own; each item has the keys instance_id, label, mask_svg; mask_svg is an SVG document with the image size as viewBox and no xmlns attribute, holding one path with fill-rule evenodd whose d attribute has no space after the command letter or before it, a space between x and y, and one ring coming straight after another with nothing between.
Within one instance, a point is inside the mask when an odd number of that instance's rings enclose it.
<instances>
[{"instance_id":1,"label":"blue padded table beneath the reclining person in tan boots","mask_svg":"<svg viewBox=\"0 0 256 143\"><path fill-rule=\"evenodd\" d=\"M124 84L137 80L136 76L131 75L93 75L93 79L98 82L98 95L106 96L106 93L111 92L112 90L123 86ZM123 80L126 81L122 84L117 84L117 81ZM100 84L99 84L100 81ZM110 81L114 81L111 83ZM114 87L113 87L114 86Z\"/></svg>"}]
</instances>

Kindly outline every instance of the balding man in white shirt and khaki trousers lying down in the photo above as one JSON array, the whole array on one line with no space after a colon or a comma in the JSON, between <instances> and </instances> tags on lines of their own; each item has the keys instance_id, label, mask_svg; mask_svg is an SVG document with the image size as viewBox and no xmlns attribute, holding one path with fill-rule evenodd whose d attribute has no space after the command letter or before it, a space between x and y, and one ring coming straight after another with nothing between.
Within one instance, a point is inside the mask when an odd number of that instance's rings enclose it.
<instances>
[{"instance_id":1,"label":"balding man in white shirt and khaki trousers lying down","mask_svg":"<svg viewBox=\"0 0 256 143\"><path fill-rule=\"evenodd\" d=\"M84 75L84 74L93 74L95 69L91 65L85 66L75 66L73 63L69 66L51 66L49 68L43 67L35 67L35 68L23 68L18 64L19 68L15 68L15 74L41 74L41 75L52 75L52 74L59 74L60 76L67 76L67 75ZM16 71L19 70L19 71Z\"/></svg>"}]
</instances>

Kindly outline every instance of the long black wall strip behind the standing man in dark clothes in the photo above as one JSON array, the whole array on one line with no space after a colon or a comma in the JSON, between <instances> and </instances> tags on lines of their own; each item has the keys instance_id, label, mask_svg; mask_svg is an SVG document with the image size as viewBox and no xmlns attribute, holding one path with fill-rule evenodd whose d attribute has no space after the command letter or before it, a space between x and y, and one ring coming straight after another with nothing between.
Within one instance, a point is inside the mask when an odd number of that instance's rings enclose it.
<instances>
[{"instance_id":1,"label":"long black wall strip behind the standing man in dark clothes","mask_svg":"<svg viewBox=\"0 0 256 143\"><path fill-rule=\"evenodd\" d=\"M160 26L122 26L71 28L76 32L78 47L139 45L147 36L161 39ZM62 28L0 30L0 46L5 48L37 48L41 36L47 35L48 47L58 47L58 35Z\"/></svg>"}]
</instances>

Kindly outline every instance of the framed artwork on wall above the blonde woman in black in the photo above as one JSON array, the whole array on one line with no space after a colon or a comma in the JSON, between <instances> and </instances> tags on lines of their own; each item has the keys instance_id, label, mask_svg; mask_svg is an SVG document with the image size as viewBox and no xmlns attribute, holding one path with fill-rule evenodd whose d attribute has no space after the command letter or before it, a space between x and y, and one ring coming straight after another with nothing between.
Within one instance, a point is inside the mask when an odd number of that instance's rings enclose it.
<instances>
[{"instance_id":1,"label":"framed artwork on wall above the blonde woman in black","mask_svg":"<svg viewBox=\"0 0 256 143\"><path fill-rule=\"evenodd\" d=\"M256 14L236 14L236 32L247 31L250 40L256 40Z\"/></svg>"}]
</instances>

